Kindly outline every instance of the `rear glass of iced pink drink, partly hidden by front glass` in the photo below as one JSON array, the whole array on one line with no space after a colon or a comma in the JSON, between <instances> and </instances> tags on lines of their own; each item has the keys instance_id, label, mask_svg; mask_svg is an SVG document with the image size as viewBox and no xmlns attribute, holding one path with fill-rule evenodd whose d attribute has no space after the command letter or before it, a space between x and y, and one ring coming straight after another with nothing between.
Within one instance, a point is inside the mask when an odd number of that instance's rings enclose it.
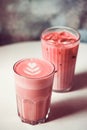
<instances>
[{"instance_id":1,"label":"rear glass of iced pink drink, partly hidden by front glass","mask_svg":"<svg viewBox=\"0 0 87 130\"><path fill-rule=\"evenodd\" d=\"M72 87L80 36L68 27L49 28L42 33L43 57L56 68L54 91L69 91Z\"/></svg>"}]
</instances>

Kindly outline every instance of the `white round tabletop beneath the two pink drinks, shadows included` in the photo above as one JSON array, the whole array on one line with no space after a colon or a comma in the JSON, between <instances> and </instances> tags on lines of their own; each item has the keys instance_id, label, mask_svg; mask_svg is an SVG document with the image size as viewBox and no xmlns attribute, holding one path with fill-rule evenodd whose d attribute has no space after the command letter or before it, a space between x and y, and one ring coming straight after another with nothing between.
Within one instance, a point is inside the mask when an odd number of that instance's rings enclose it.
<instances>
[{"instance_id":1,"label":"white round tabletop beneath the two pink drinks, shadows included","mask_svg":"<svg viewBox=\"0 0 87 130\"><path fill-rule=\"evenodd\" d=\"M52 92L49 120L34 126L17 116L13 76L13 64L28 57L42 57L40 42L0 47L0 130L87 130L87 44L79 47L73 90Z\"/></svg>"}]
</instances>

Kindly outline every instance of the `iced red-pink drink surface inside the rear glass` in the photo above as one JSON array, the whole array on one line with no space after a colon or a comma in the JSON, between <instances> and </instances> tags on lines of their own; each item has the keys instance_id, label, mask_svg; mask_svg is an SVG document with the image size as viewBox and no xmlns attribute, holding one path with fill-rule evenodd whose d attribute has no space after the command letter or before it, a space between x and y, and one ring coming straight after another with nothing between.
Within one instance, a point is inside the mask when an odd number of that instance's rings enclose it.
<instances>
[{"instance_id":1,"label":"iced red-pink drink surface inside the rear glass","mask_svg":"<svg viewBox=\"0 0 87 130\"><path fill-rule=\"evenodd\" d=\"M48 32L42 36L42 39L54 45L70 45L77 41L76 36L68 31Z\"/></svg>"}]
</instances>

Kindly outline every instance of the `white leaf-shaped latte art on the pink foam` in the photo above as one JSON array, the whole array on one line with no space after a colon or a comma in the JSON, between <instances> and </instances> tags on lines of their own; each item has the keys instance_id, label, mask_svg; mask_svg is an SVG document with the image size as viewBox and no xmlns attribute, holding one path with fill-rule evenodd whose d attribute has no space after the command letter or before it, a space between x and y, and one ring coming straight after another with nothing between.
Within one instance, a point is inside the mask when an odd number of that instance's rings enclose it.
<instances>
[{"instance_id":1,"label":"white leaf-shaped latte art on the pink foam","mask_svg":"<svg viewBox=\"0 0 87 130\"><path fill-rule=\"evenodd\" d=\"M27 67L24 69L24 72L30 75L36 75L39 74L40 68L35 62L30 62L27 64Z\"/></svg>"}]
</instances>

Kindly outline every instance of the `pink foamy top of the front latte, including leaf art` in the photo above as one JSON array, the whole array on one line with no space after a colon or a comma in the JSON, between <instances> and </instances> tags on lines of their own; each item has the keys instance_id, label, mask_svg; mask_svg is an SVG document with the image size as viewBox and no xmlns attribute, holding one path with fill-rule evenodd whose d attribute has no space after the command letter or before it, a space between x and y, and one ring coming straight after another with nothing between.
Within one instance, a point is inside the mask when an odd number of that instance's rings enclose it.
<instances>
[{"instance_id":1,"label":"pink foamy top of the front latte, including leaf art","mask_svg":"<svg viewBox=\"0 0 87 130\"><path fill-rule=\"evenodd\" d=\"M15 72L28 78L44 78L54 71L54 66L41 59L24 59L14 66Z\"/></svg>"}]
</instances>

